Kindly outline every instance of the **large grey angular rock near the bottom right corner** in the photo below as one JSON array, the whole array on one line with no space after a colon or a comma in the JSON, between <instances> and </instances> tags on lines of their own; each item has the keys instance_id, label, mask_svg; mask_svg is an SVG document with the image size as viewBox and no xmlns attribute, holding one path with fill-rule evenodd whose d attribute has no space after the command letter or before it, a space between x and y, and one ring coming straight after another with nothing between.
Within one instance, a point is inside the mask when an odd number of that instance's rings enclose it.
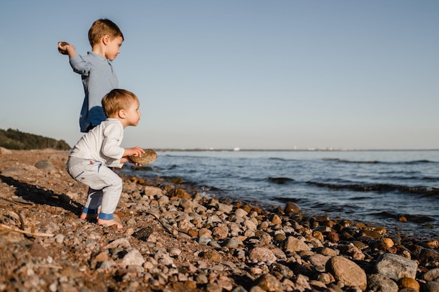
<instances>
[{"instance_id":1,"label":"large grey angular rock near the bottom right corner","mask_svg":"<svg viewBox=\"0 0 439 292\"><path fill-rule=\"evenodd\" d=\"M393 253L384 253L377 258L375 270L379 274L383 274L395 281L403 277L414 279L417 272L417 263L414 260L409 260L403 256L398 256Z\"/></svg>"}]
</instances>

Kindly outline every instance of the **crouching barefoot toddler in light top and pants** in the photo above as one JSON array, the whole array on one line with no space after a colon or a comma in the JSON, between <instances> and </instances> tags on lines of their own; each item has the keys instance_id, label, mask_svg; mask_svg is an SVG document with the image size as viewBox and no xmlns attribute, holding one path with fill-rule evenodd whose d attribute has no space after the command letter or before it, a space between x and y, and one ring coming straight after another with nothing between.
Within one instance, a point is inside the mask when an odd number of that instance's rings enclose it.
<instances>
[{"instance_id":1,"label":"crouching barefoot toddler in light top and pants","mask_svg":"<svg viewBox=\"0 0 439 292\"><path fill-rule=\"evenodd\" d=\"M114 215L121 197L122 180L111 167L122 167L124 162L130 161L128 156L144 153L138 146L120 146L123 129L139 123L139 99L128 90L114 89L102 99L102 109L107 120L90 130L74 146L67 162L67 172L89 187L80 218L96 218L101 206L97 223L122 228Z\"/></svg>"}]
</instances>

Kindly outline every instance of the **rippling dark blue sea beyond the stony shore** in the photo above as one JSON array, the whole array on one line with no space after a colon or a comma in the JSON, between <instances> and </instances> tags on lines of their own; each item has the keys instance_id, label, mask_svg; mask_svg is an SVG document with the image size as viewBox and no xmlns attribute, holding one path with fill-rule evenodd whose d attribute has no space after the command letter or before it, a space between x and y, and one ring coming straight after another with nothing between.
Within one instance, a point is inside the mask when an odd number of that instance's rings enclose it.
<instances>
[{"instance_id":1,"label":"rippling dark blue sea beyond the stony shore","mask_svg":"<svg viewBox=\"0 0 439 292\"><path fill-rule=\"evenodd\" d=\"M439 238L439 151L156 151L144 178L181 178L201 195L327 214ZM406 220L403 220L403 219Z\"/></svg>"}]
</instances>

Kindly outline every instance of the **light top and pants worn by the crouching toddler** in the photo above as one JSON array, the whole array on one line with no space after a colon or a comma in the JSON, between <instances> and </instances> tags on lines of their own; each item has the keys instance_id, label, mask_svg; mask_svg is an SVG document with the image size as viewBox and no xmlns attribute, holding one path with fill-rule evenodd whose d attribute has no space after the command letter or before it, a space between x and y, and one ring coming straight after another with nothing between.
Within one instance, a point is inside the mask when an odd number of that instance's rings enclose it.
<instances>
[{"instance_id":1,"label":"light top and pants worn by the crouching toddler","mask_svg":"<svg viewBox=\"0 0 439 292\"><path fill-rule=\"evenodd\" d=\"M123 125L116 118L107 118L76 143L69 155L67 172L76 181L85 183L88 197L83 213L97 214L99 218L114 218L122 192L122 179L109 167L122 167Z\"/></svg>"}]
</instances>

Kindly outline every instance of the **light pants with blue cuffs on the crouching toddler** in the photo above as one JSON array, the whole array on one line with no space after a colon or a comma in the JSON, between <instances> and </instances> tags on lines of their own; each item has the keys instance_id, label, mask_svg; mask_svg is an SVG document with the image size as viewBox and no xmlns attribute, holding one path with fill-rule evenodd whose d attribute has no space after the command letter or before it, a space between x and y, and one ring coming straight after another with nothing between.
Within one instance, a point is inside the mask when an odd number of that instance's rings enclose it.
<instances>
[{"instance_id":1,"label":"light pants with blue cuffs on the crouching toddler","mask_svg":"<svg viewBox=\"0 0 439 292\"><path fill-rule=\"evenodd\" d=\"M88 186L83 213L97 214L97 208L101 206L99 218L113 219L121 197L122 179L101 162L82 158L69 158L67 172Z\"/></svg>"}]
</instances>

